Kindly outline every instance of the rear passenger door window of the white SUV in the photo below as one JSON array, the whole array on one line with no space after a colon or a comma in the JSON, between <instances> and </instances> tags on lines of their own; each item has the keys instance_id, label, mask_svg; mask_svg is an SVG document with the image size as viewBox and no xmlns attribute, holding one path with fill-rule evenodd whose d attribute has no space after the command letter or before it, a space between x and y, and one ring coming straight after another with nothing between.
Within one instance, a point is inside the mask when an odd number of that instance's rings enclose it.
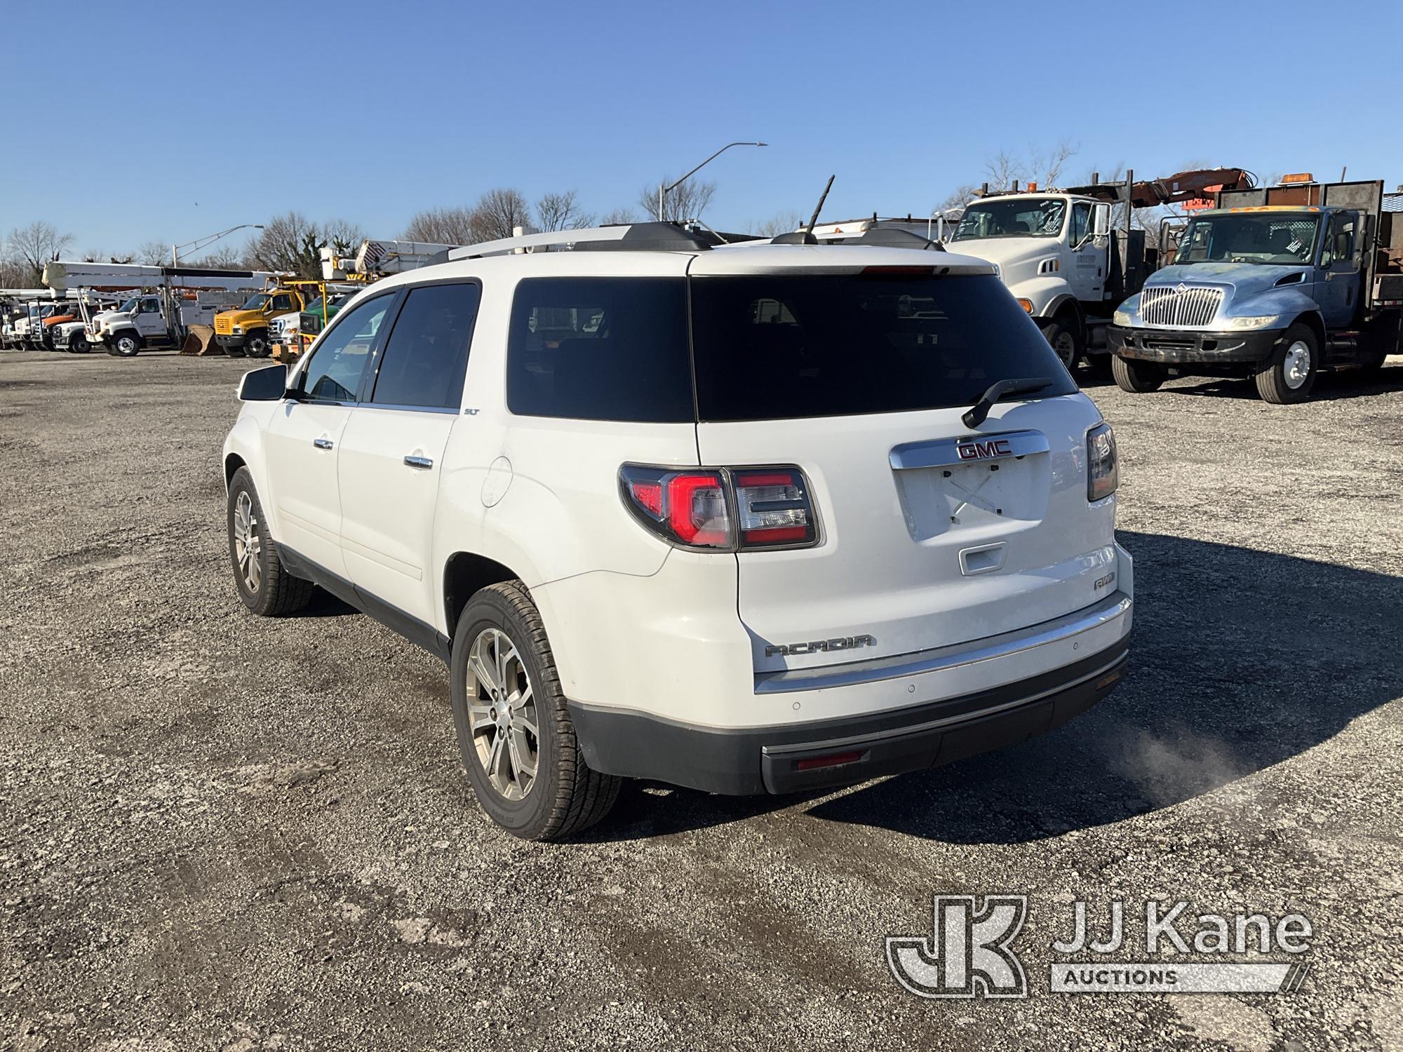
<instances>
[{"instance_id":1,"label":"rear passenger door window of the white SUV","mask_svg":"<svg viewBox=\"0 0 1403 1052\"><path fill-rule=\"evenodd\" d=\"M370 401L377 405L456 410L477 321L476 283L411 289L390 331Z\"/></svg>"}]
</instances>

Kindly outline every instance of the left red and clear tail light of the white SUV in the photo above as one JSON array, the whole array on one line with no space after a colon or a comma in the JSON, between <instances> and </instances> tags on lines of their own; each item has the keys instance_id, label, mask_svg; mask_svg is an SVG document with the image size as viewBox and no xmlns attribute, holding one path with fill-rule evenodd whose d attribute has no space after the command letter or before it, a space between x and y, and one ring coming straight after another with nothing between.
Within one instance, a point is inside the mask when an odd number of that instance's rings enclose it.
<instances>
[{"instance_id":1,"label":"left red and clear tail light of the white SUV","mask_svg":"<svg viewBox=\"0 0 1403 1052\"><path fill-rule=\"evenodd\" d=\"M808 483L797 467L619 468L633 516L669 544L749 551L818 543Z\"/></svg>"}]
</instances>

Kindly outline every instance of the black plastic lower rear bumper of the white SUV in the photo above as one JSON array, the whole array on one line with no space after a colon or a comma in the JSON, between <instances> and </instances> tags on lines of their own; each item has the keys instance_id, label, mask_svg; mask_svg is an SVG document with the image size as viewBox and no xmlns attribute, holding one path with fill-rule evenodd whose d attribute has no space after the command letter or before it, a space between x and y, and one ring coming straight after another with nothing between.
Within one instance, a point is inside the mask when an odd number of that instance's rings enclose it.
<instances>
[{"instance_id":1,"label":"black plastic lower rear bumper of the white SUV","mask_svg":"<svg viewBox=\"0 0 1403 1052\"><path fill-rule=\"evenodd\" d=\"M925 770L1051 731L1115 689L1128 652L1121 635L1070 665L976 693L776 727L699 727L568 704L585 762L598 771L728 795L796 793ZM804 763L833 756L846 759Z\"/></svg>"}]
</instances>

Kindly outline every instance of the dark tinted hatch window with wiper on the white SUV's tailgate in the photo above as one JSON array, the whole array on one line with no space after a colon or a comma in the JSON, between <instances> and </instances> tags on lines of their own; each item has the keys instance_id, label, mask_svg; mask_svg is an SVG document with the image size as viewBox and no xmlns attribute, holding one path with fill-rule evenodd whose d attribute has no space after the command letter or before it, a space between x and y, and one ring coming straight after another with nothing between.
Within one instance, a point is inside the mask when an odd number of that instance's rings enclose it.
<instances>
[{"instance_id":1,"label":"dark tinted hatch window with wiper on the white SUV's tailgate","mask_svg":"<svg viewBox=\"0 0 1403 1052\"><path fill-rule=\"evenodd\" d=\"M995 380L1076 384L998 278L746 275L692 281L703 421L972 405Z\"/></svg>"}]
</instances>

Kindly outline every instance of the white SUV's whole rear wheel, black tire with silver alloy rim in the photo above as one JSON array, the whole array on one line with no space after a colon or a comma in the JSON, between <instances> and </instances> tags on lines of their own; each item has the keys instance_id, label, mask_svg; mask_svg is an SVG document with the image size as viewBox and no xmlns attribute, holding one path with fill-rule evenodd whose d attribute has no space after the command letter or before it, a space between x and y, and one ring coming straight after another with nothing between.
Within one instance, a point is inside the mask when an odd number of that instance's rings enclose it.
<instances>
[{"instance_id":1,"label":"white SUV's whole rear wheel, black tire with silver alloy rim","mask_svg":"<svg viewBox=\"0 0 1403 1052\"><path fill-rule=\"evenodd\" d=\"M457 619L450 668L463 767L488 818L523 840L558 840L609 814L622 778L585 764L526 585L505 581L471 598Z\"/></svg>"}]
</instances>

